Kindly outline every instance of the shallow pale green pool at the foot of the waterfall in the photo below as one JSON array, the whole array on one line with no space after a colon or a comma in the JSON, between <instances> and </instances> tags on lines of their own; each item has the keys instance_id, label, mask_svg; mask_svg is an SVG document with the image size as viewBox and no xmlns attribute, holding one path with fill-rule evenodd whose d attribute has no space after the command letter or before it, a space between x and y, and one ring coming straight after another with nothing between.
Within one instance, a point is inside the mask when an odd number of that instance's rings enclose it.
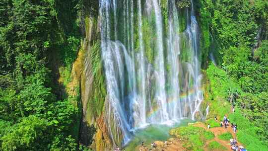
<instances>
[{"instance_id":1,"label":"shallow pale green pool at the foot of the waterfall","mask_svg":"<svg viewBox=\"0 0 268 151\"><path fill-rule=\"evenodd\" d=\"M155 141L166 141L172 136L169 135L169 131L172 128L187 126L188 123L193 123L191 119L183 119L169 124L151 124L144 129L138 129L135 131L132 140L125 146L126 151L136 151L135 148L144 142L145 145L150 145ZM138 150L137 150L138 151Z\"/></svg>"}]
</instances>

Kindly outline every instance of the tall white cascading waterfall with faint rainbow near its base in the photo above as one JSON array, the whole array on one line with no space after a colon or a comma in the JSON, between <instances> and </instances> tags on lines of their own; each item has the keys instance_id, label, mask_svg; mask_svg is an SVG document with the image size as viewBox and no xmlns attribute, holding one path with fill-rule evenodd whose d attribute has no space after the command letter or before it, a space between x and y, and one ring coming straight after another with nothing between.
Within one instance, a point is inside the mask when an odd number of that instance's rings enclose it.
<instances>
[{"instance_id":1,"label":"tall white cascading waterfall with faint rainbow near its base","mask_svg":"<svg viewBox=\"0 0 268 151\"><path fill-rule=\"evenodd\" d=\"M100 0L106 121L114 144L119 136L128 142L136 128L195 119L199 112L198 22L192 1L180 32L175 1L167 0L164 16L159 0Z\"/></svg>"}]
</instances>

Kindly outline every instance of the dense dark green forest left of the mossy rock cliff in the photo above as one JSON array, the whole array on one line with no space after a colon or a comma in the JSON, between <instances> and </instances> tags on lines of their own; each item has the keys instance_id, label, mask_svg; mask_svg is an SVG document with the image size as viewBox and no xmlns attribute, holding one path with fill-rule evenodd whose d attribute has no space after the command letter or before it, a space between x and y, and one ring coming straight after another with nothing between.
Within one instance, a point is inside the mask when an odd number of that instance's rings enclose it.
<instances>
[{"instance_id":1,"label":"dense dark green forest left of the mossy rock cliff","mask_svg":"<svg viewBox=\"0 0 268 151\"><path fill-rule=\"evenodd\" d=\"M79 85L76 95L67 93L80 6L79 0L0 1L0 151L87 150L78 147Z\"/></svg>"}]
</instances>

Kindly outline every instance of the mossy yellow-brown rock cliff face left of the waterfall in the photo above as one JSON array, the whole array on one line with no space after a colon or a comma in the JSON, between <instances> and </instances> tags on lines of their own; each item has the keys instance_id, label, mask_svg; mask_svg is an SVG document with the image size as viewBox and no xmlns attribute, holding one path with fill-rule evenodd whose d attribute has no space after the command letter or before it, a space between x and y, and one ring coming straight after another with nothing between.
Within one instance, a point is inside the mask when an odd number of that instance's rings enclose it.
<instances>
[{"instance_id":1,"label":"mossy yellow-brown rock cliff face left of the waterfall","mask_svg":"<svg viewBox=\"0 0 268 151\"><path fill-rule=\"evenodd\" d=\"M83 0L80 27L84 35L72 68L72 84L80 86L80 144L96 151L110 151L111 139L105 124L106 85L101 62L98 0Z\"/></svg>"}]
</instances>

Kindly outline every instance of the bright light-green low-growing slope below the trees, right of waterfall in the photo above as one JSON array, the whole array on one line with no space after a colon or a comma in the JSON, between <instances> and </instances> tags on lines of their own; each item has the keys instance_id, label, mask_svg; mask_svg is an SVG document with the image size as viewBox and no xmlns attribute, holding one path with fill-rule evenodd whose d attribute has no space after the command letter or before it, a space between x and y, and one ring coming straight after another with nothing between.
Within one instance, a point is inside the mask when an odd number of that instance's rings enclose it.
<instances>
[{"instance_id":1,"label":"bright light-green low-growing slope below the trees, right of waterfall","mask_svg":"<svg viewBox=\"0 0 268 151\"><path fill-rule=\"evenodd\" d=\"M218 118L222 119L224 115L227 115L231 123L237 124L237 139L239 142L245 145L248 150L268 150L265 139L263 139L262 136L264 134L258 135L261 134L260 129L266 128L259 127L261 126L261 123L256 125L255 122L252 122L250 119L248 119L245 114L243 115L241 113L243 108L239 109L239 104L237 104L235 113L231 113L231 106L229 105L228 100L231 100L230 96L233 93L230 93L230 90L235 89L239 92L239 94L243 93L239 87L239 84L235 83L234 80L232 80L232 78L226 74L226 72L215 67L214 65L210 65L207 69L207 77L210 82L209 100L211 100L210 113L212 116L218 113ZM225 112L222 112L222 110L225 110Z\"/></svg>"}]
</instances>

